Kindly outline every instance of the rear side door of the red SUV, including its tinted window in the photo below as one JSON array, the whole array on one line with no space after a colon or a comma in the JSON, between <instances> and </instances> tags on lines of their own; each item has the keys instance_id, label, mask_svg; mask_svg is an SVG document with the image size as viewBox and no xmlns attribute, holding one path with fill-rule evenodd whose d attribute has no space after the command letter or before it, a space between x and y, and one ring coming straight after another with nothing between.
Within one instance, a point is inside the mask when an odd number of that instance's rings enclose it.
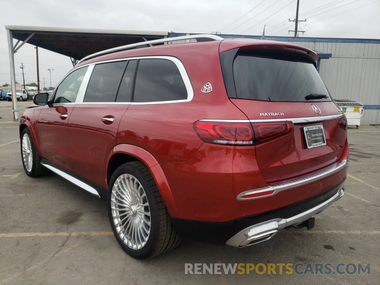
<instances>
[{"instance_id":1,"label":"rear side door of the red SUV, including its tinted window","mask_svg":"<svg viewBox=\"0 0 380 285\"><path fill-rule=\"evenodd\" d=\"M90 66L93 71L84 98L70 116L68 157L73 171L103 188L107 188L108 154L116 146L117 128L130 105L136 62Z\"/></svg>"}]
</instances>

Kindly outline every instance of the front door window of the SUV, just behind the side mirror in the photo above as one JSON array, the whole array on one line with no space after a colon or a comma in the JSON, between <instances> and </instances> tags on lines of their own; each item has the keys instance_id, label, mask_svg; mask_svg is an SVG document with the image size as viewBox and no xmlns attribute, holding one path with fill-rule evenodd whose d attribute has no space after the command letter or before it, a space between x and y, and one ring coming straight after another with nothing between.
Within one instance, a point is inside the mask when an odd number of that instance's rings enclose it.
<instances>
[{"instance_id":1,"label":"front door window of the SUV, just behind the side mirror","mask_svg":"<svg viewBox=\"0 0 380 285\"><path fill-rule=\"evenodd\" d=\"M55 89L54 103L75 102L78 96L79 87L81 87L84 74L88 67L79 68L71 72Z\"/></svg>"}]
</instances>

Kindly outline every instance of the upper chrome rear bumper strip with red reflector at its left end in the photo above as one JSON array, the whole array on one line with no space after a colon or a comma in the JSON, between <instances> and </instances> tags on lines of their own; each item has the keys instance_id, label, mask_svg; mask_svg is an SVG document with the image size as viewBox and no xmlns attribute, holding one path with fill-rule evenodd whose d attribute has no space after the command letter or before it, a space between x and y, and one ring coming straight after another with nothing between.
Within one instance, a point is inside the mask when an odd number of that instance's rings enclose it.
<instances>
[{"instance_id":1,"label":"upper chrome rear bumper strip with red reflector at its left end","mask_svg":"<svg viewBox=\"0 0 380 285\"><path fill-rule=\"evenodd\" d=\"M282 190L298 187L310 182L313 182L315 180L321 179L323 177L329 176L333 173L336 173L337 171L345 168L348 165L348 160L342 159L337 161L336 163L333 163L330 166L327 166L323 169L320 169L318 171L315 171L313 173L305 174L296 178L291 178L287 180L283 180L280 182L275 182L275 183L268 183L268 187L263 187L263 188L258 188L258 189L253 189L253 190L248 190L240 193L239 195L236 196L236 199L238 200L253 200L253 199L260 199L268 196L273 196L279 193ZM244 198L244 196L247 195L253 195L253 194L259 194L262 192L268 192L268 191L274 191L271 194L264 195L264 196L258 196L258 197L253 197L253 198Z\"/></svg>"}]
</instances>

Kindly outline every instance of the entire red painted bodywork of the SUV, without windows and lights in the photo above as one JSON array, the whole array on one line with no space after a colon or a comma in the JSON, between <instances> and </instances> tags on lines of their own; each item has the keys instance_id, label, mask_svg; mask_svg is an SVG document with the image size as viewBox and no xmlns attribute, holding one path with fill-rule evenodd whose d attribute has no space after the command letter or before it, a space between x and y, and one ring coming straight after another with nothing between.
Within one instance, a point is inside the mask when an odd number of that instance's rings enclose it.
<instances>
[{"instance_id":1,"label":"entire red painted bodywork of the SUV, without windows and lights","mask_svg":"<svg viewBox=\"0 0 380 285\"><path fill-rule=\"evenodd\" d=\"M120 51L79 64L127 57L169 55L184 65L194 98L188 102L146 105L78 104L25 111L21 123L34 128L41 156L108 188L117 154L141 160L152 173L171 217L227 222L278 209L321 193L344 180L347 168L274 196L240 201L244 191L263 188L285 176L298 176L329 160L348 158L347 130L338 120L295 124L292 133L257 146L223 146L202 142L193 123L202 119L248 120L340 114L333 102L266 102L229 99L219 52L236 47L287 49L316 54L304 47L272 41L233 39L152 46ZM212 92L201 92L210 83ZM75 107L74 107L75 106ZM63 122L62 112L68 112ZM72 113L71 113L72 112ZM283 112L284 116L260 116ZM70 116L71 115L71 116ZM40 117L38 119L38 116ZM114 116L114 122L103 122ZM37 120L38 119L38 120ZM326 146L307 149L302 127L322 124ZM34 140L34 138L33 138ZM331 161L332 163L332 161ZM72 166L72 168L71 168Z\"/></svg>"}]
</instances>

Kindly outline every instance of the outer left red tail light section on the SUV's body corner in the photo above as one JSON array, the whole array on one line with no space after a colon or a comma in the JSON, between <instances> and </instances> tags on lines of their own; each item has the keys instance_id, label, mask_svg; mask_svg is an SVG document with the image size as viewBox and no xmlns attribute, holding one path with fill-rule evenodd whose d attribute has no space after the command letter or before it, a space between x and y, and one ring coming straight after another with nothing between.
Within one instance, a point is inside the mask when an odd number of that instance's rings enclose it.
<instances>
[{"instance_id":1,"label":"outer left red tail light section on the SUV's body corner","mask_svg":"<svg viewBox=\"0 0 380 285\"><path fill-rule=\"evenodd\" d=\"M202 141L211 144L253 145L250 123L198 121L193 129Z\"/></svg>"}]
</instances>

